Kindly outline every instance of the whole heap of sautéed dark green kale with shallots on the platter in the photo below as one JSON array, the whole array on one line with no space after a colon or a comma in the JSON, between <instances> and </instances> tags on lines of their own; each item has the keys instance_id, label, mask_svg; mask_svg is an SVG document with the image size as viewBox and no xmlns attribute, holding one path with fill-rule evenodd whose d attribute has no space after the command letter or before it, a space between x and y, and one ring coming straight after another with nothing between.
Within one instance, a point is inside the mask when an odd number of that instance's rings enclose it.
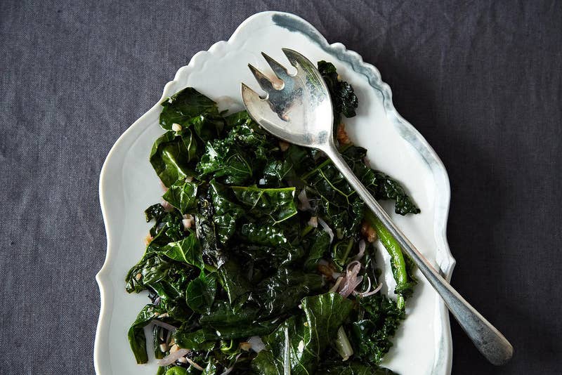
<instances>
[{"instance_id":1,"label":"whole heap of saut\u00e9ed dark green kale with shallots on the platter","mask_svg":"<svg viewBox=\"0 0 562 375\"><path fill-rule=\"evenodd\" d=\"M353 87L331 63L318 69L335 124L355 116ZM379 364L405 319L412 263L335 166L195 88L162 107L150 163L166 190L145 211L148 244L126 275L126 291L150 298L128 333L136 362L148 362L152 326L162 375L394 374ZM367 150L339 151L374 197L419 212L365 164ZM368 293L380 271L366 226L391 255L396 301Z\"/></svg>"}]
</instances>

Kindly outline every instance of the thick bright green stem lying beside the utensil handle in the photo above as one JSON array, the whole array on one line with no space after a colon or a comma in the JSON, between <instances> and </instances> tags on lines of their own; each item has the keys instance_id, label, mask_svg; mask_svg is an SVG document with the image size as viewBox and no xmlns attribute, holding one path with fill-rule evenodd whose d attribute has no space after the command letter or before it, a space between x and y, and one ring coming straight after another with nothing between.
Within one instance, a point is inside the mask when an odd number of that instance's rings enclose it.
<instances>
[{"instance_id":1,"label":"thick bright green stem lying beside the utensil handle","mask_svg":"<svg viewBox=\"0 0 562 375\"><path fill-rule=\"evenodd\" d=\"M391 233L388 232L384 225L377 216L371 211L367 211L365 218L370 223L370 225L377 231L379 239L381 239L386 251L391 256L391 268L396 280L397 289L403 290L408 286L408 273L406 271L406 262L404 261L404 254L402 254L402 249L400 249L400 244L392 237ZM405 300L403 294L398 292L398 298L396 300L398 308L403 309L405 307Z\"/></svg>"}]
</instances>

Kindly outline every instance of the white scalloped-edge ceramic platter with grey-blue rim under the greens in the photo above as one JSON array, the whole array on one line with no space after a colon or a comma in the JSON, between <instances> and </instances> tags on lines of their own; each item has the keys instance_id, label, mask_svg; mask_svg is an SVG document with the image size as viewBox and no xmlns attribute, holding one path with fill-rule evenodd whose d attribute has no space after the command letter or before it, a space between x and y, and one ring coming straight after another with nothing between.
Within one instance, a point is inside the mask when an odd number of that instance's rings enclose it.
<instances>
[{"instance_id":1,"label":"white scalloped-edge ceramic platter with grey-blue rim under the greens","mask_svg":"<svg viewBox=\"0 0 562 375\"><path fill-rule=\"evenodd\" d=\"M447 245L446 226L450 186L443 163L431 146L393 107L391 90L379 71L348 51L343 44L328 44L308 22L290 13L264 12L242 22L228 41L197 53L164 87L162 100L192 86L218 101L221 109L242 109L240 82L256 91L247 64L266 69L260 52L266 51L289 66L282 47L303 53L312 61L333 62L359 98L358 114L346 119L352 140L366 147L372 166L403 182L421 213L393 219L417 248L450 279L455 260ZM160 100L160 101L162 101ZM159 101L159 103L160 103ZM141 258L148 233L143 210L159 202L162 187L148 162L158 126L157 103L132 124L112 147L100 174L100 204L107 232L107 256L96 279L101 309L94 346L97 374L156 373L157 365L139 366L129 349L126 332L148 298L127 294L124 277ZM388 204L388 211L393 211ZM384 292L393 290L388 256L381 247L377 259L384 268ZM407 304L407 319L394 339L383 365L399 374L450 374L452 345L447 309L418 272L419 284ZM149 352L150 353L150 352Z\"/></svg>"}]
</instances>

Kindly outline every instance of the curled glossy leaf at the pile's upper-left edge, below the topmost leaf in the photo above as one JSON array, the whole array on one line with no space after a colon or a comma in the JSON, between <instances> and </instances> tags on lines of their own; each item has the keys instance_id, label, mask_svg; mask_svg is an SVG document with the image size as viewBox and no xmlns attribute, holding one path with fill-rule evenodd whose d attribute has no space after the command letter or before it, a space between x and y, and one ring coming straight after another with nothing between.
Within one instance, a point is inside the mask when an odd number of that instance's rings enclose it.
<instances>
[{"instance_id":1,"label":"curled glossy leaf at the pile's upper-left edge, below the topmost leaf","mask_svg":"<svg viewBox=\"0 0 562 375\"><path fill-rule=\"evenodd\" d=\"M200 147L190 129L176 134L167 131L158 138L150 151L150 164L162 183L170 187L176 180L194 176L195 165L199 157Z\"/></svg>"}]
</instances>

